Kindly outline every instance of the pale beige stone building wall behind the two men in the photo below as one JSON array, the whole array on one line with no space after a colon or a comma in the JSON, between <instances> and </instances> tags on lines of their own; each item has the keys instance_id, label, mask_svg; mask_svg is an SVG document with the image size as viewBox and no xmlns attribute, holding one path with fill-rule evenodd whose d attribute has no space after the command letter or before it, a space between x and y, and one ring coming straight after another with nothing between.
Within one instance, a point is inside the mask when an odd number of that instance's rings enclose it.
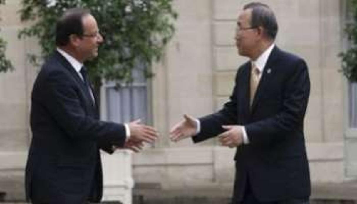
<instances>
[{"instance_id":1,"label":"pale beige stone building wall behind the two men","mask_svg":"<svg viewBox=\"0 0 357 204\"><path fill-rule=\"evenodd\" d=\"M162 188L230 185L234 150L215 139L193 145L171 143L170 127L187 113L202 116L218 110L228 99L238 65L234 34L238 11L247 0L175 0L179 14L176 33L156 76L148 81L150 117L160 131L154 146L132 156L136 183ZM342 182L357 176L357 134L349 127L348 81L338 72L338 53L345 49L345 0L262 0L275 11L280 26L276 44L302 56L311 78L311 96L305 119L308 158L313 182ZM21 180L31 139L29 107L38 68L26 53L39 50L36 40L19 40L25 25L17 10L20 0L0 6L0 35L15 71L0 74L0 179ZM102 97L105 100L105 95ZM105 112L105 101L101 103ZM119 165L120 166L120 165ZM10 182L10 181L9 181ZM1 183L1 182L0 182ZM19 184L20 185L20 184ZM0 186L1 187L1 186Z\"/></svg>"}]
</instances>

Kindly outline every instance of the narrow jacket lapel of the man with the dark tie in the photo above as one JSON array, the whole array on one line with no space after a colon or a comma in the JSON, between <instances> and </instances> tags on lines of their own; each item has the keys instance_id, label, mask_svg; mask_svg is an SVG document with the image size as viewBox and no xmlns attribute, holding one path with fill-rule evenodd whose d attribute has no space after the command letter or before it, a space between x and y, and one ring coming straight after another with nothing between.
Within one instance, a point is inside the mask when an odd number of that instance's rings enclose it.
<instances>
[{"instance_id":1,"label":"narrow jacket lapel of the man with the dark tie","mask_svg":"<svg viewBox=\"0 0 357 204\"><path fill-rule=\"evenodd\" d=\"M55 51L55 58L58 59L60 63L72 74L77 84L81 87L82 93L86 96L87 99L90 100L92 107L96 108L96 103L94 103L87 86L83 83L83 80L80 78L73 66L58 51Z\"/></svg>"}]
</instances>

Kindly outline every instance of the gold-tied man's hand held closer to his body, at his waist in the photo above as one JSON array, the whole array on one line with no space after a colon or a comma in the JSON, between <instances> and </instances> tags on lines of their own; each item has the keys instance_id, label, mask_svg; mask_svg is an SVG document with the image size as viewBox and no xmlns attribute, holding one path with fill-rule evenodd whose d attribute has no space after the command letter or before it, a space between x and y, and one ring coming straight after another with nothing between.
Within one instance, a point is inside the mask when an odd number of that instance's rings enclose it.
<instances>
[{"instance_id":1,"label":"gold-tied man's hand held closer to his body, at his waist","mask_svg":"<svg viewBox=\"0 0 357 204\"><path fill-rule=\"evenodd\" d=\"M219 141L223 146L230 148L239 146L243 143L242 126L240 125L222 125L227 131L218 135Z\"/></svg>"}]
</instances>

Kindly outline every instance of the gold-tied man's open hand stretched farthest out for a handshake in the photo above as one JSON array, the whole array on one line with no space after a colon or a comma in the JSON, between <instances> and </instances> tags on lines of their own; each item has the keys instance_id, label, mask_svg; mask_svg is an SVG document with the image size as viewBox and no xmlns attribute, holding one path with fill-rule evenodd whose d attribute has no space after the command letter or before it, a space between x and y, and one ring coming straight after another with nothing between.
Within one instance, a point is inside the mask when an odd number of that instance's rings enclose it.
<instances>
[{"instance_id":1,"label":"gold-tied man's open hand stretched farthest out for a handshake","mask_svg":"<svg viewBox=\"0 0 357 204\"><path fill-rule=\"evenodd\" d=\"M196 119L189 115L183 115L184 120L174 125L170 130L170 138L176 142L196 134Z\"/></svg>"}]
</instances>

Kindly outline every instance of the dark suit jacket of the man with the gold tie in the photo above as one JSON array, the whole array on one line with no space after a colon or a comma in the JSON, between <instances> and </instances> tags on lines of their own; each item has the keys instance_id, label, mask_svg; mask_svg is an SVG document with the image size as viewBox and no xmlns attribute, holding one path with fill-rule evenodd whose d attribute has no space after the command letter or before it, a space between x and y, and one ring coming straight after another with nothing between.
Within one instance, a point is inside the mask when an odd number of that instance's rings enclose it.
<instances>
[{"instance_id":1,"label":"dark suit jacket of the man with the gold tie","mask_svg":"<svg viewBox=\"0 0 357 204\"><path fill-rule=\"evenodd\" d=\"M307 198L310 173L303 133L310 95L307 65L273 48L251 109L250 69L250 62L238 69L230 101L217 113L200 118L201 132L193 140L222 133L223 124L245 126L250 143L236 150L233 203L242 199L247 179L261 201Z\"/></svg>"}]
</instances>

